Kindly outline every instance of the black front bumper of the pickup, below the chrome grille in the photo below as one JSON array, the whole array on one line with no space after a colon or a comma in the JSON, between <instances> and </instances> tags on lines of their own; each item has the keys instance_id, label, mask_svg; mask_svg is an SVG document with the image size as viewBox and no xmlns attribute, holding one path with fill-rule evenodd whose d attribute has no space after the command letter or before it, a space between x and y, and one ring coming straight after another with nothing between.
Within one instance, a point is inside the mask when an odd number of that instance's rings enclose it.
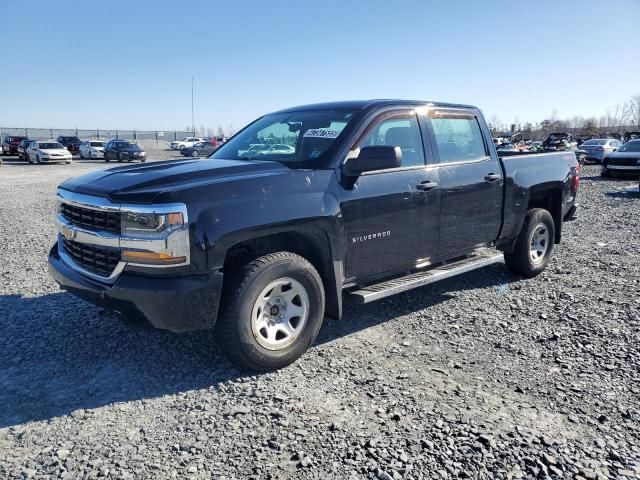
<instances>
[{"instance_id":1,"label":"black front bumper of the pickup, below the chrome grille","mask_svg":"<svg viewBox=\"0 0 640 480\"><path fill-rule=\"evenodd\" d=\"M91 280L67 265L55 244L49 252L49 273L60 286L107 310L141 317L172 332L213 328L222 272L185 277L142 277L123 272L112 285Z\"/></svg>"}]
</instances>

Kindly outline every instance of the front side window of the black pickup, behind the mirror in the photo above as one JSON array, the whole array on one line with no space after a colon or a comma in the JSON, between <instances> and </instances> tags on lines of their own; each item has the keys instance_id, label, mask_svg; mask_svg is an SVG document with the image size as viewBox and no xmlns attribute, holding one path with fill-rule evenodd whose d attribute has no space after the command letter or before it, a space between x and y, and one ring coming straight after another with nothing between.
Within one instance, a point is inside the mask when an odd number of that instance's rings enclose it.
<instances>
[{"instance_id":1,"label":"front side window of the black pickup, behind the mirror","mask_svg":"<svg viewBox=\"0 0 640 480\"><path fill-rule=\"evenodd\" d=\"M370 128L358 148L391 145L402 150L402 166L424 165L422 134L415 114L397 115L380 120Z\"/></svg>"}]
</instances>

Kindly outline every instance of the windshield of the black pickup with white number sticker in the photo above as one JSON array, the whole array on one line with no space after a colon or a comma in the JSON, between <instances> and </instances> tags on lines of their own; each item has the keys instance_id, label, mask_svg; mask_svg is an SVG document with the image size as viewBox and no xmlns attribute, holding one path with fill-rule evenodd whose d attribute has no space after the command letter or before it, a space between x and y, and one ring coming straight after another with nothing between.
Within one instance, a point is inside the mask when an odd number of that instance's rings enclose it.
<instances>
[{"instance_id":1,"label":"windshield of the black pickup with white number sticker","mask_svg":"<svg viewBox=\"0 0 640 480\"><path fill-rule=\"evenodd\" d=\"M283 112L255 121L210 158L292 162L298 166L321 159L340 137L354 112L323 110Z\"/></svg>"}]
</instances>

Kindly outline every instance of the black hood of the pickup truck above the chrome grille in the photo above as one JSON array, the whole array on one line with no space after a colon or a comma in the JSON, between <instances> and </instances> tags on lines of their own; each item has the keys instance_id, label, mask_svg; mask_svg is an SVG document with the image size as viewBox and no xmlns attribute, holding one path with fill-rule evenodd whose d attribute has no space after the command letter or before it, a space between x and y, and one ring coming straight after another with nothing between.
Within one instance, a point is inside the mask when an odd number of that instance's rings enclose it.
<instances>
[{"instance_id":1,"label":"black hood of the pickup truck above the chrome grille","mask_svg":"<svg viewBox=\"0 0 640 480\"><path fill-rule=\"evenodd\" d=\"M291 170L277 162L169 160L99 170L66 180L60 188L114 202L152 203L163 193L203 184L282 175Z\"/></svg>"}]
</instances>

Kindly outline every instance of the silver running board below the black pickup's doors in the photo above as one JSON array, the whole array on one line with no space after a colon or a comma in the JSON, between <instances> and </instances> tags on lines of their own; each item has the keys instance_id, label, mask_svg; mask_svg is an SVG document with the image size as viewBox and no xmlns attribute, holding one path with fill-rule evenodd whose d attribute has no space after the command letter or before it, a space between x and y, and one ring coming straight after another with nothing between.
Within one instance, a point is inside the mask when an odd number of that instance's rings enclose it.
<instances>
[{"instance_id":1,"label":"silver running board below the black pickup's doors","mask_svg":"<svg viewBox=\"0 0 640 480\"><path fill-rule=\"evenodd\" d=\"M455 277L461 273L477 270L487 265L502 263L503 261L504 257L502 253L496 254L495 251L473 255L463 258L462 260L432 268L431 270L412 273L406 277L394 278L382 283L362 287L360 290L349 292L348 295L355 303L369 303L395 295L396 293L439 282L445 278Z\"/></svg>"}]
</instances>

